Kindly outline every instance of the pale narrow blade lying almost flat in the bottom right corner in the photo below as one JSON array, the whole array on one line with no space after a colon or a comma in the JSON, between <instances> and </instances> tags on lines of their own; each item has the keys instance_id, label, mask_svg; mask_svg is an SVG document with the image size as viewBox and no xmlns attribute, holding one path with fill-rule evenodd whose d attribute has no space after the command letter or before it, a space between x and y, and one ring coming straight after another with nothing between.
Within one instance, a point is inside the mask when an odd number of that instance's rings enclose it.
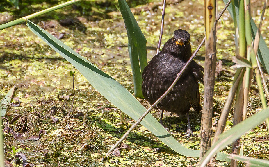
<instances>
[{"instance_id":1,"label":"pale narrow blade lying almost flat in the bottom right corner","mask_svg":"<svg viewBox=\"0 0 269 167\"><path fill-rule=\"evenodd\" d=\"M245 157L241 155L230 154L229 158L234 159L236 161L245 162L248 166L259 166L259 167L268 167L269 161L256 159L251 157Z\"/></svg>"}]
</instances>

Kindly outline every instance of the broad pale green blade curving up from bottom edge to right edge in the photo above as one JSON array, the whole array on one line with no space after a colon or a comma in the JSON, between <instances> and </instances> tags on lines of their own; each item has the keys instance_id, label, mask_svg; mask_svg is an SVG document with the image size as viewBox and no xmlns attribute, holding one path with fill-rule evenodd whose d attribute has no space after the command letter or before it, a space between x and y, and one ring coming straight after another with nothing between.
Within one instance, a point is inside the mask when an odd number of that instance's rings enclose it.
<instances>
[{"instance_id":1,"label":"broad pale green blade curving up from bottom edge to right edge","mask_svg":"<svg viewBox=\"0 0 269 167\"><path fill-rule=\"evenodd\" d=\"M211 148L206 152L200 162L200 166L205 166L210 158L215 155L216 152L222 150L227 145L241 137L247 131L255 128L257 125L262 123L267 117L269 117L269 108L263 109L261 112L245 119L244 121L233 126L230 130L225 133L220 134L218 141L211 146Z\"/></svg>"}]
</instances>

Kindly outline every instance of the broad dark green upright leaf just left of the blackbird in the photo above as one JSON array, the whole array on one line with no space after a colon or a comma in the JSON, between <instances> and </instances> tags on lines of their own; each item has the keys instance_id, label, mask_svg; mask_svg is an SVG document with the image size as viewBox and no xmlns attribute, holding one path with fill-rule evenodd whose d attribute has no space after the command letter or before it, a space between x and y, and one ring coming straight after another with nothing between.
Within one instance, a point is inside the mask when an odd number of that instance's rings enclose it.
<instances>
[{"instance_id":1,"label":"broad dark green upright leaf just left of the blackbird","mask_svg":"<svg viewBox=\"0 0 269 167\"><path fill-rule=\"evenodd\" d=\"M128 51L133 71L134 94L136 97L142 95L142 77L141 74L147 65L147 40L143 35L136 19L133 16L125 0L119 0L120 12L122 14L128 35Z\"/></svg>"}]
</instances>

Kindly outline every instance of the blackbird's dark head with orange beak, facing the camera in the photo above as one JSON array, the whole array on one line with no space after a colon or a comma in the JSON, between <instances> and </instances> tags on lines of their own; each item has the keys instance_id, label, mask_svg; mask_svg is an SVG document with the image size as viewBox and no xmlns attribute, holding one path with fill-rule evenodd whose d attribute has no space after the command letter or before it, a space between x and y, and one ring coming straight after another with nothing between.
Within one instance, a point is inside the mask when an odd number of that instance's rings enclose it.
<instances>
[{"instance_id":1,"label":"blackbird's dark head with orange beak, facing the camera","mask_svg":"<svg viewBox=\"0 0 269 167\"><path fill-rule=\"evenodd\" d=\"M169 50L177 55L190 57L190 33L186 30L178 29L174 31L174 37L169 39L163 46L163 50Z\"/></svg>"}]
</instances>

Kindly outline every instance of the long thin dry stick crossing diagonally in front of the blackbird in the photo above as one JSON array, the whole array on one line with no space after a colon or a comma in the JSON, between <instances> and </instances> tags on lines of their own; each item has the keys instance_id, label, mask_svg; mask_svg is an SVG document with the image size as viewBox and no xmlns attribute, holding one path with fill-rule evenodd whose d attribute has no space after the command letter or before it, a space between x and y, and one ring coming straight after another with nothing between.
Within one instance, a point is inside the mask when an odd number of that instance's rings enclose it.
<instances>
[{"instance_id":1,"label":"long thin dry stick crossing diagonally in front of the blackbird","mask_svg":"<svg viewBox=\"0 0 269 167\"><path fill-rule=\"evenodd\" d=\"M229 6L229 4L231 3L231 1L229 0L225 6L225 8L220 12L220 14L218 15L217 21L220 19L220 17L222 16L222 14L224 13L224 11L227 9L227 7ZM145 116L170 92L170 90L174 87L174 85L177 83L177 81L179 80L179 77L182 75L182 73L185 71L185 69L188 67L188 65L190 64L190 62L193 60L193 58L196 56L197 52L199 51L199 49L202 47L202 45L204 44L206 38L204 37L204 39L202 40L202 42L199 44L199 46L197 47L197 49L193 52L192 56L190 57L190 59L186 62L185 66L182 68L182 70L177 74L176 79L174 80L174 82L172 83L172 85L167 89L167 91L164 92L164 94L158 98L158 100L153 103L153 105L151 105L149 107L149 109L147 109L147 111L136 121L136 123L134 123L131 128L129 130L127 130L125 132L125 134L120 138L120 140L117 141L117 143L114 144L114 146L108 150L108 152L106 153L106 155L103 157L106 158L106 156L108 156L127 136L128 134L143 120L143 118L145 118Z\"/></svg>"}]
</instances>

